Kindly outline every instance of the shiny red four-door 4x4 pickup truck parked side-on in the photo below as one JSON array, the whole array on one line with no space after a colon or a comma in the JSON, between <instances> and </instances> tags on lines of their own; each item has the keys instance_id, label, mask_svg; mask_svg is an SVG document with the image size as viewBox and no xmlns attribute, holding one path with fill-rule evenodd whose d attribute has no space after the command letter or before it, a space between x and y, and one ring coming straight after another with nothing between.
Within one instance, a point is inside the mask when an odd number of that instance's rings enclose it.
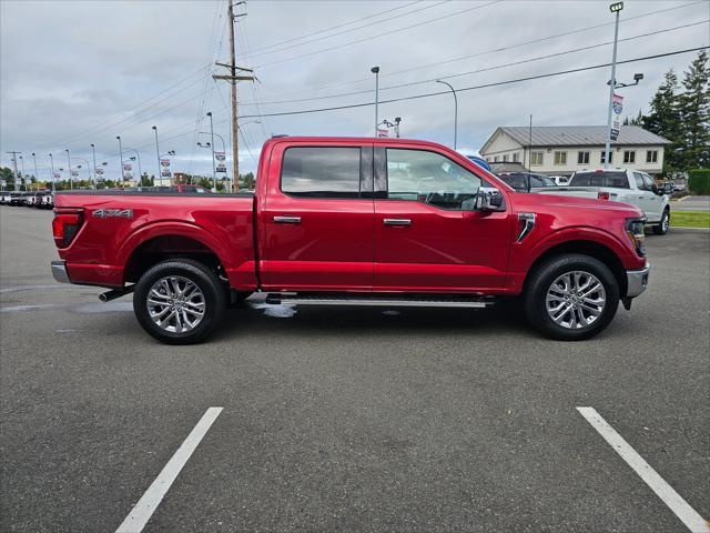
<instances>
[{"instance_id":1,"label":"shiny red four-door 4x4 pickup truck parked side-on","mask_svg":"<svg viewBox=\"0 0 710 533\"><path fill-rule=\"evenodd\" d=\"M275 138L255 193L58 193L54 279L133 292L148 333L206 339L229 303L483 308L521 296L559 340L604 330L646 289L628 204L515 192L443 145Z\"/></svg>"}]
</instances>

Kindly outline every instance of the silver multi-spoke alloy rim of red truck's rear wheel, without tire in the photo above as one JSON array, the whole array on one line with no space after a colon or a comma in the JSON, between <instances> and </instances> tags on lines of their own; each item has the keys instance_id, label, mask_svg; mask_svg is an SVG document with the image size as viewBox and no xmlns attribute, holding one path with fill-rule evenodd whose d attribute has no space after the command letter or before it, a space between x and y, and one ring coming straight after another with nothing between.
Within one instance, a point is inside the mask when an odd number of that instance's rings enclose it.
<instances>
[{"instance_id":1,"label":"silver multi-spoke alloy rim of red truck's rear wheel, without tire","mask_svg":"<svg viewBox=\"0 0 710 533\"><path fill-rule=\"evenodd\" d=\"M204 294L182 275L169 275L153 283L146 304L151 320L171 333L193 330L204 318Z\"/></svg>"}]
</instances>

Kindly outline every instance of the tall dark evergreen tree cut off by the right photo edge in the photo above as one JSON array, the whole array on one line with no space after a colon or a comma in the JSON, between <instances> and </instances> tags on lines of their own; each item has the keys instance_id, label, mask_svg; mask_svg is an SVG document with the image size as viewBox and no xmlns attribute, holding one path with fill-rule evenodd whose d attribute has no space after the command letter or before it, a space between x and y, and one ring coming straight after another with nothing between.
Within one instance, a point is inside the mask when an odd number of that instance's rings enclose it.
<instances>
[{"instance_id":1,"label":"tall dark evergreen tree cut off by the right photo edge","mask_svg":"<svg viewBox=\"0 0 710 533\"><path fill-rule=\"evenodd\" d=\"M684 73L678 97L684 145L682 170L710 168L710 60L701 50Z\"/></svg>"}]
</instances>

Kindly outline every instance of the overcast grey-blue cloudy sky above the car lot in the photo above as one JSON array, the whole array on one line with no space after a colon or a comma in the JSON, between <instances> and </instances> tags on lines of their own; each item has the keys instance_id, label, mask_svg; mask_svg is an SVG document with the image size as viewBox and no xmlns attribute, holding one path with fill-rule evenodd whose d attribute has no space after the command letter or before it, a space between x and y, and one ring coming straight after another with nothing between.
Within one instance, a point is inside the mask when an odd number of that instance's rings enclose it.
<instances>
[{"instance_id":1,"label":"overcast grey-blue cloudy sky above the car lot","mask_svg":"<svg viewBox=\"0 0 710 533\"><path fill-rule=\"evenodd\" d=\"M605 43L613 39L605 1L250 0L237 11L246 12L236 26L237 62L260 80L239 86L246 117L240 121L242 171L255 169L262 142L274 133L372 135L374 105L260 122L248 115L372 103L373 66L381 67L379 99L389 100L445 91L437 78L464 89L606 63L611 46ZM707 47L708 19L708 0L627 1L619 38L649 36L621 41L619 60ZM140 152L143 171L155 173L156 125L161 151L176 151L174 171L211 174L211 154L196 141L207 141L197 132L209 131L212 111L231 172L230 88L211 79L223 70L214 61L229 61L224 0L0 0L0 23L2 165L10 165L7 151L19 150L33 173L37 152L45 179L49 152L65 168L64 149L77 158L72 164L82 164L94 143L97 161L109 163L106 177L116 178L121 135L123 147ZM560 33L568 34L555 37ZM582 47L592 48L559 54ZM536 59L550 54L557 56ZM663 73L682 72L696 56L621 64L619 81L646 76L621 90L625 113L648 110ZM605 68L462 91L458 148L478 150L496 127L527 124L530 113L537 125L604 124L608 79ZM379 117L402 117L402 137L453 144L450 93L383 103Z\"/></svg>"}]
</instances>

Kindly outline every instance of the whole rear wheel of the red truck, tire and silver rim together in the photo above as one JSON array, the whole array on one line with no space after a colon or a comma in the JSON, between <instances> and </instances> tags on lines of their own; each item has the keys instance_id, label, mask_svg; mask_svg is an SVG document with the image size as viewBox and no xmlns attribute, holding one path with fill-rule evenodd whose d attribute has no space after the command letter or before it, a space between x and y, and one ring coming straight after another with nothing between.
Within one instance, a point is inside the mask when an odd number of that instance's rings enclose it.
<instances>
[{"instance_id":1,"label":"whole rear wheel of the red truck, tire and silver rim together","mask_svg":"<svg viewBox=\"0 0 710 533\"><path fill-rule=\"evenodd\" d=\"M224 291L214 272L189 259L152 266L133 293L138 321L166 344L204 341L221 321L224 308Z\"/></svg>"}]
</instances>

